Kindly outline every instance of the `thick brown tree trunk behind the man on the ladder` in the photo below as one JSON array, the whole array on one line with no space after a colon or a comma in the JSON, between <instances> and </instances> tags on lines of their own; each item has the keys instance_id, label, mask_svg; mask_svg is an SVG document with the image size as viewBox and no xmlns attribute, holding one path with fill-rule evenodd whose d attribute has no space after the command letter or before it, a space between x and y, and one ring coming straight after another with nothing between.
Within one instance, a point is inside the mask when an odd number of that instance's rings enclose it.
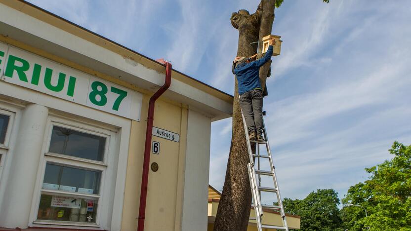
<instances>
[{"instance_id":1,"label":"thick brown tree trunk behind the man on the ladder","mask_svg":"<svg viewBox=\"0 0 411 231\"><path fill-rule=\"evenodd\" d=\"M260 20L264 12L263 5L267 5L267 7L273 6L271 9L266 10L267 12L271 12L272 19L268 17L267 19ZM271 33L274 19L274 5L275 0L261 0L256 12L251 15L247 10L239 10L237 13L234 12L232 14L231 24L239 31L237 56L249 57L257 52L257 43L252 42L256 42L259 38L265 36L261 35L260 21L264 21L264 27L270 27L269 30L264 29L262 33L266 33L267 31ZM269 16L267 12L266 15ZM267 20L271 20L271 24L267 23ZM265 76L267 76L267 72ZM237 79L235 79L234 89L233 133L230 155L228 157L223 192L214 222L214 231L246 231L251 206L251 191L247 173L249 158L243 119L238 101Z\"/></svg>"}]
</instances>

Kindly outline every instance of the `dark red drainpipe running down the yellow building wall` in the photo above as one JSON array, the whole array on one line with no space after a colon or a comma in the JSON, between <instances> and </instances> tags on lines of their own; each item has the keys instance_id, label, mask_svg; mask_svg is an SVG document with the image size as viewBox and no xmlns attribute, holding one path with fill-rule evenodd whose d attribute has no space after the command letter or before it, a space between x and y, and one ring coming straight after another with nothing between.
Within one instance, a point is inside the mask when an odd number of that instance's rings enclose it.
<instances>
[{"instance_id":1,"label":"dark red drainpipe running down the yellow building wall","mask_svg":"<svg viewBox=\"0 0 411 231\"><path fill-rule=\"evenodd\" d=\"M144 148L144 161L143 161L143 176L141 179L141 192L140 192L140 209L138 212L138 225L137 231L144 231L144 220L146 213L147 202L147 185L148 185L148 170L150 165L150 150L151 150L151 135L153 131L154 120L154 104L156 100L168 89L171 84L171 63L164 61L165 64L165 82L164 85L150 98L148 105L147 116L147 130L146 130L146 144Z\"/></svg>"}]
</instances>

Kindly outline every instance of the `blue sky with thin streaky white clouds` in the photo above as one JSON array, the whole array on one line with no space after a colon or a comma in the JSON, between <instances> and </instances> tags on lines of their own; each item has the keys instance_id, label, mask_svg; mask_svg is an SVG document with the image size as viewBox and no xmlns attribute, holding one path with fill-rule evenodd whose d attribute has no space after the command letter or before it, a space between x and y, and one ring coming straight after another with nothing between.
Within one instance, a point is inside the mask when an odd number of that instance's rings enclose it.
<instances>
[{"instance_id":1,"label":"blue sky with thin streaky white clouds","mask_svg":"<svg viewBox=\"0 0 411 231\"><path fill-rule=\"evenodd\" d=\"M283 197L342 197L364 168L411 144L411 1L285 0L273 34L282 54L267 80L265 122ZM239 9L259 0L30 0L230 94ZM115 2L115 3L114 3ZM221 190L231 119L212 124L210 184Z\"/></svg>"}]
</instances>

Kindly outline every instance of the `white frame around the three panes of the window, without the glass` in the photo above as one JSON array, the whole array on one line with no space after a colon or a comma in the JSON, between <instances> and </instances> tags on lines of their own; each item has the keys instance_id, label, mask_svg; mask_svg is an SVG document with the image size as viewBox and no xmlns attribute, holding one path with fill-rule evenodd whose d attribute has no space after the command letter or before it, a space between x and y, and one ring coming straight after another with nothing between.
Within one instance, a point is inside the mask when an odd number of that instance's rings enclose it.
<instances>
[{"instance_id":1,"label":"white frame around the three panes of the window, without the glass","mask_svg":"<svg viewBox=\"0 0 411 231\"><path fill-rule=\"evenodd\" d=\"M50 153L49 147L51 143L51 135L53 126L64 127L73 129L79 132L84 132L92 135L97 135L106 138L103 161L91 160L71 155ZM79 120L73 120L67 117L49 115L47 119L46 131L44 133L44 142L42 148L42 157L39 166L39 183L36 185L34 193L34 203L32 204L31 221L34 225L59 225L59 226L73 226L73 227L101 227L102 213L109 206L109 195L107 187L105 187L107 180L111 179L113 174L112 168L109 168L110 164L114 164L116 149L116 137L117 131L114 131L110 127L101 126L99 123L79 122ZM63 166L101 171L100 175L100 187L98 194L86 194L79 192L64 192L60 190L45 190L42 189L44 182L45 167L47 163L55 163ZM97 213L95 221L91 223L84 222L71 222L71 221L52 221L52 220L39 220L37 214L39 212L41 194L53 194L61 196L77 196L81 198L89 198L97 200ZM106 196L107 195L107 196Z\"/></svg>"}]
</instances>

